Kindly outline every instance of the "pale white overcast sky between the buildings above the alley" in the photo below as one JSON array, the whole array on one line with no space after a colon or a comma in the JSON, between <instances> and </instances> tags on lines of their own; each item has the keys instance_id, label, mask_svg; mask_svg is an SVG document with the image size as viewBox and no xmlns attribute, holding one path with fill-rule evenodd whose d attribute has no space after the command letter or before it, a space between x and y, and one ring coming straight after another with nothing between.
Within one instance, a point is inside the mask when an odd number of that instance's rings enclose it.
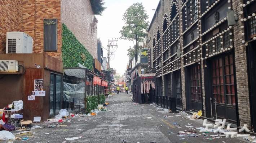
<instances>
[{"instance_id":1,"label":"pale white overcast sky between the buildings above the alley","mask_svg":"<svg viewBox=\"0 0 256 143\"><path fill-rule=\"evenodd\" d=\"M102 16L97 15L98 19L98 38L101 39L102 46L107 49L108 40L118 38L118 48L116 49L114 59L110 61L110 67L115 68L120 76L124 74L126 70L129 57L127 56L127 49L129 46L133 46L132 41L119 39L122 27L125 25L123 14L125 10L134 3L142 3L147 15L149 15L148 21L151 22L159 0L104 0L104 7L107 7L103 11ZM107 57L107 51L103 49L103 57Z\"/></svg>"}]
</instances>

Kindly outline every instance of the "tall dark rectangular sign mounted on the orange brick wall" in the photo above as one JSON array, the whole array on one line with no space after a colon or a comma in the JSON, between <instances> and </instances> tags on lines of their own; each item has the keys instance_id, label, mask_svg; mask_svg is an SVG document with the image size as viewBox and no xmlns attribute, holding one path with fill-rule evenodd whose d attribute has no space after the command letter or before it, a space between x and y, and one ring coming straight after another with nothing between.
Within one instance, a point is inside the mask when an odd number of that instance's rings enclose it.
<instances>
[{"instance_id":1,"label":"tall dark rectangular sign mounted on the orange brick wall","mask_svg":"<svg viewBox=\"0 0 256 143\"><path fill-rule=\"evenodd\" d=\"M57 51L57 19L44 19L44 51Z\"/></svg>"}]
</instances>

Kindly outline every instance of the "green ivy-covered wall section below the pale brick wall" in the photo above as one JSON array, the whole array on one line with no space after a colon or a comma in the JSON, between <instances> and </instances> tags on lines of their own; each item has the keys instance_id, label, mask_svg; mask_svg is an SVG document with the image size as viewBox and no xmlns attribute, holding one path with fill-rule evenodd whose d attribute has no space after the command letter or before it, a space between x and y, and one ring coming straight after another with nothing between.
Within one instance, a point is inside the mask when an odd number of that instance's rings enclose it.
<instances>
[{"instance_id":1,"label":"green ivy-covered wall section below the pale brick wall","mask_svg":"<svg viewBox=\"0 0 256 143\"><path fill-rule=\"evenodd\" d=\"M78 63L93 70L93 57L76 39L75 35L62 24L62 61L63 67L79 67Z\"/></svg>"}]
</instances>

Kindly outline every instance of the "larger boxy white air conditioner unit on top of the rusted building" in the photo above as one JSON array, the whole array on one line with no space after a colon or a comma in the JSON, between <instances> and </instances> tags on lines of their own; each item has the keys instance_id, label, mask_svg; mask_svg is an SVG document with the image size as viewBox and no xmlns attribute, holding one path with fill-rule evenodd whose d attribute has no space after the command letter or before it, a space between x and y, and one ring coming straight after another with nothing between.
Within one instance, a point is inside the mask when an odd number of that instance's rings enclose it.
<instances>
[{"instance_id":1,"label":"larger boxy white air conditioner unit on top of the rusted building","mask_svg":"<svg viewBox=\"0 0 256 143\"><path fill-rule=\"evenodd\" d=\"M31 53L33 52L33 38L24 32L6 33L6 54L8 53Z\"/></svg>"}]
</instances>

